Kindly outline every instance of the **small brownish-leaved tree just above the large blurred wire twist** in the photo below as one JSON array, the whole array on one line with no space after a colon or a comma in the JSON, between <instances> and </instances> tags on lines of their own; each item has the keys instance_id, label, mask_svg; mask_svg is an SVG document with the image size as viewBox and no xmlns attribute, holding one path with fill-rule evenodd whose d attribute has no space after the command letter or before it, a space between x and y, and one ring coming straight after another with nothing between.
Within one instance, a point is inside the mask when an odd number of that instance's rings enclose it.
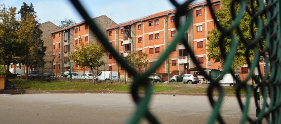
<instances>
[{"instance_id":1,"label":"small brownish-leaved tree just above the large blurred wire twist","mask_svg":"<svg viewBox=\"0 0 281 124\"><path fill-rule=\"evenodd\" d=\"M141 68L147 67L148 61L146 58L148 57L148 54L142 53L141 51L138 52L132 52L130 51L128 53L128 56L126 59L128 60L129 64L134 67L138 68L139 71L141 71Z\"/></svg>"}]
</instances>

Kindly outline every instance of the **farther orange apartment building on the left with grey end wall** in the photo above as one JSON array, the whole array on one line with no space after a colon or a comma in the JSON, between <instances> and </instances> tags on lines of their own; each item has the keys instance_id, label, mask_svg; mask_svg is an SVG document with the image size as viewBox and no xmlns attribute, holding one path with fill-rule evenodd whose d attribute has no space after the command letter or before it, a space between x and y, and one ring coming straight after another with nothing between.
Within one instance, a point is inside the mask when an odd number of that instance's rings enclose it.
<instances>
[{"instance_id":1,"label":"farther orange apartment building on the left with grey end wall","mask_svg":"<svg viewBox=\"0 0 281 124\"><path fill-rule=\"evenodd\" d=\"M106 28L116 25L114 21L105 15L95 17L93 21L99 26L104 35L107 35ZM51 33L51 37L53 48L52 72L61 74L61 72L71 71L79 75L82 75L84 72L97 74L97 70L91 72L88 67L83 68L78 63L70 61L67 57L67 55L74 53L74 46L79 45L81 42L84 44L100 43L85 21L54 31ZM108 56L102 57L102 60L107 62ZM102 68L108 68L108 64Z\"/></svg>"}]
</instances>

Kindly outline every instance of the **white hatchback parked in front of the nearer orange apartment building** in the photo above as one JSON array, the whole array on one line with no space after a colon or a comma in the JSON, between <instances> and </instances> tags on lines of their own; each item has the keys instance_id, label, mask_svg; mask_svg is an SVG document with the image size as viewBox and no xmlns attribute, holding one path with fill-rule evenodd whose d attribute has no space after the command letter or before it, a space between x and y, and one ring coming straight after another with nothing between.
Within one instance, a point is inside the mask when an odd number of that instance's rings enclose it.
<instances>
[{"instance_id":1,"label":"white hatchback parked in front of the nearer orange apartment building","mask_svg":"<svg viewBox=\"0 0 281 124\"><path fill-rule=\"evenodd\" d=\"M199 78L195 74L181 74L170 78L171 82L186 82L187 84L197 84Z\"/></svg>"}]
</instances>

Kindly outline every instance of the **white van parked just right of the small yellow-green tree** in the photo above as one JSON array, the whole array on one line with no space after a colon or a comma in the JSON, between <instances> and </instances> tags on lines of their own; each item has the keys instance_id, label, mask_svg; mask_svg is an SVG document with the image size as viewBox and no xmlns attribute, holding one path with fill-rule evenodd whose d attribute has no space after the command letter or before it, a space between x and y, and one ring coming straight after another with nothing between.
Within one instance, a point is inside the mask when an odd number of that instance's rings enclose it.
<instances>
[{"instance_id":1,"label":"white van parked just right of the small yellow-green tree","mask_svg":"<svg viewBox=\"0 0 281 124\"><path fill-rule=\"evenodd\" d=\"M98 81L104 81L104 80L118 80L119 75L117 71L101 71L97 75Z\"/></svg>"}]
</instances>

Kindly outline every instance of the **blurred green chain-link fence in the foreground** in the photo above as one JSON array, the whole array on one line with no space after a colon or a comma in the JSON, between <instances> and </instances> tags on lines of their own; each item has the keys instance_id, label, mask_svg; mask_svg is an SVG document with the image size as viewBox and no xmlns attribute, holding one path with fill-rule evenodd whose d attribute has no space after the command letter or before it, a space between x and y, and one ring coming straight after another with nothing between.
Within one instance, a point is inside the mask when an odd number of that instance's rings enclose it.
<instances>
[{"instance_id":1,"label":"blurred green chain-link fence in the foreground","mask_svg":"<svg viewBox=\"0 0 281 124\"><path fill-rule=\"evenodd\" d=\"M193 2L194 0L187 0L183 4L179 4L175 0L170 0L172 4L175 5L177 8L177 13L175 16L176 19L176 27L178 30L178 35L173 40L173 42L169 45L169 47L166 49L166 51L161 55L161 57L158 59L158 61L153 64L148 70L146 70L144 73L139 74L134 68L129 66L129 64L126 63L124 59L122 59L118 53L115 52L115 50L112 48L112 46L109 44L107 37L105 37L102 32L98 29L97 25L92 21L89 14L86 12L84 7L81 5L81 3L78 0L71 0L73 5L76 7L76 9L80 12L80 14L83 16L83 18L87 21L89 26L91 27L91 30L94 31L96 36L99 38L101 44L106 47L106 49L116 58L116 60L122 64L122 66L133 75L134 82L131 87L131 94L132 97L136 103L137 110L134 113L134 115L128 120L129 124L136 124L139 123L142 118L146 118L150 123L157 124L159 123L158 120L151 114L151 112L148 109L148 103L150 102L150 97L152 95L152 87L146 81L147 76L150 75L152 72L154 72L162 62L164 62L168 55L174 50L177 43L182 41L183 44L186 47L186 50L188 54L190 55L190 58L195 63L196 67L198 67L199 71L204 74L205 78L209 80L211 83L208 87L208 98L210 101L210 104L213 108L212 113L210 114L208 124L213 124L216 121L218 121L221 124L224 124L224 119L222 118L220 114L220 108L222 105L222 101L224 99L224 88L219 84L219 79L222 79L223 75L227 72L231 72L234 79L237 82L237 86L235 87L236 90L236 97L241 109L242 118L240 120L241 124L245 123L261 123L262 120L266 120L268 124L281 124L281 68L279 67L281 65L281 45L280 45L280 16L279 13L279 6L281 3L278 0L232 0L231 1L231 12L233 17L233 23L228 28L223 28L220 25L220 22L217 20L214 10L212 9L212 3L211 0L206 0L208 3L208 7L210 8L212 17L215 21L215 24L217 26L217 29L221 32L219 44L220 44L220 50L221 50L221 56L224 58L224 70L221 73L220 77L217 78L217 80L213 80L209 75L204 73L204 69L200 66L200 64L197 62L193 51L187 44L187 40L185 39L185 31L187 31L187 28L192 26L192 13L187 10L187 5ZM223 4L223 3L222 3ZM240 8L234 8L235 4L239 4ZM254 4L257 5L255 9ZM239 10L238 12L234 12L235 10ZM241 29L239 28L239 23L243 17L244 13L248 13L251 16L251 35L253 37L253 40L251 42L246 42L245 37L240 33ZM187 20L184 25L180 26L180 17L182 15L187 15ZM267 21L263 21L264 18ZM253 27L257 27L257 31L254 31ZM237 31L238 35L233 35L233 32ZM264 36L264 37L263 37ZM232 45L229 52L226 52L224 50L224 39L225 37L230 37L232 39ZM259 46L258 44L261 42L262 38L265 40L265 45ZM240 42L237 41L237 39L241 40ZM232 62L234 61L234 55L237 50L237 44L243 43L246 46L246 62L249 66L250 72L246 79L243 81L239 80L234 76L234 71L232 70ZM254 52L254 57L250 58L250 52ZM265 69L265 75L261 75L261 69L259 68L259 60L260 57L265 58L266 62L266 69ZM253 60L253 61L250 61ZM270 65L270 69L269 69ZM257 72L255 72L255 67L257 67ZM269 75L269 70L270 74ZM259 73L260 76L255 76ZM252 91L252 88L246 84L247 81L250 79L254 79L256 86L254 90ZM141 97L138 93L138 88L144 87L145 88L145 95ZM212 91L213 90L219 90L219 97L217 100L213 98ZM263 106L259 106L259 100L260 100L260 94L259 89L261 90L261 95L264 99ZM244 90L246 91L246 100L242 102L240 97L240 91ZM249 99L252 97L251 93L254 93L255 98L255 105L257 108L257 118L256 120L251 119L248 116L248 108L249 108Z\"/></svg>"}]
</instances>

